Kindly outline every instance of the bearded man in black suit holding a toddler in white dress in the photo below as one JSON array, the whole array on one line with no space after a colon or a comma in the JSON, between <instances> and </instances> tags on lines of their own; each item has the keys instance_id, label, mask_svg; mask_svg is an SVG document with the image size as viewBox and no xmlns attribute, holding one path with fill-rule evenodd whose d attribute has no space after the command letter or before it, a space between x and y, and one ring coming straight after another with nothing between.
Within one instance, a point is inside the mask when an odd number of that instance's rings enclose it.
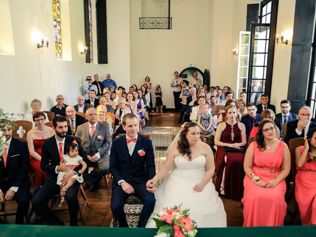
<instances>
[{"instance_id":1,"label":"bearded man in black suit holding a toddler in white dress","mask_svg":"<svg viewBox=\"0 0 316 237\"><path fill-rule=\"evenodd\" d=\"M64 222L52 212L52 210L47 206L47 203L51 197L54 197L60 192L60 186L57 185L57 176L59 171L67 172L62 180L62 183L66 184L74 174L78 174L82 165L73 169L72 165L67 164L66 162L60 164L63 154L67 154L67 147L76 139L67 134L68 123L66 118L56 116L52 122L56 135L46 139L44 142L41 149L40 160L40 168L47 172L48 176L40 191L35 195L35 197L33 197L32 206L37 215L43 217L47 221L48 225L64 225ZM86 162L87 165L89 165L90 162L83 151L80 142L78 140L76 141L79 146L79 156L83 158L83 161ZM78 226L77 219L79 202L77 194L79 186L79 182L76 181L75 184L68 189L66 194L71 226Z\"/></svg>"}]
</instances>

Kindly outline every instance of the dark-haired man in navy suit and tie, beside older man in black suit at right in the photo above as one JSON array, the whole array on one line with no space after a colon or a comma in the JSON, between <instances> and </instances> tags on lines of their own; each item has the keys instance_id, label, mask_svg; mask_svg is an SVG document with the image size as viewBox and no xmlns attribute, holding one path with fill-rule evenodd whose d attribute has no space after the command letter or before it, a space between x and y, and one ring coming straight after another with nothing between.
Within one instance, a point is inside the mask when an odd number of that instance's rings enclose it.
<instances>
[{"instance_id":1,"label":"dark-haired man in navy suit and tie, beside older man in black suit at right","mask_svg":"<svg viewBox=\"0 0 316 237\"><path fill-rule=\"evenodd\" d=\"M290 113L291 102L288 100L281 101L281 113L276 114L275 123L280 130L280 137L283 137L283 123L291 122L298 119L296 114Z\"/></svg>"}]
</instances>

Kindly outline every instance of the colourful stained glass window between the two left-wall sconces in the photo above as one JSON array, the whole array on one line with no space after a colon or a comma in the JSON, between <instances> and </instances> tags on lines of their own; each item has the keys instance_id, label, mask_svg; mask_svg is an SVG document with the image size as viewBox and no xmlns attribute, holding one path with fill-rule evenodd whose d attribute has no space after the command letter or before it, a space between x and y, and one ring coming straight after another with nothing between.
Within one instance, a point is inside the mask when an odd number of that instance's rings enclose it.
<instances>
[{"instance_id":1,"label":"colourful stained glass window between the two left-wall sconces","mask_svg":"<svg viewBox=\"0 0 316 237\"><path fill-rule=\"evenodd\" d=\"M61 48L61 25L60 25L60 3L59 0L52 0L54 13L54 35L55 35L55 51L56 58L62 58Z\"/></svg>"}]
</instances>

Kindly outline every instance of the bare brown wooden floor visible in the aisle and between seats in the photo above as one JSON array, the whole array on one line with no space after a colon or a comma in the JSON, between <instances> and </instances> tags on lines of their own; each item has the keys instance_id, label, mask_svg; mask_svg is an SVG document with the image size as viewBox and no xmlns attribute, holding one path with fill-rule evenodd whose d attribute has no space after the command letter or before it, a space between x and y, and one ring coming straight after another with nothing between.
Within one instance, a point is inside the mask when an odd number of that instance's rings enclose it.
<instances>
[{"instance_id":1,"label":"bare brown wooden floor visible in the aisle and between seats","mask_svg":"<svg viewBox=\"0 0 316 237\"><path fill-rule=\"evenodd\" d=\"M166 112L164 114L154 114L151 115L150 121L146 123L147 126L180 126L177 121L179 119L179 113ZM110 187L111 187L110 181ZM84 208L84 219L85 226L103 226L109 227L112 221L112 212L110 209L111 204L111 191L105 190L105 180L102 180L100 183L100 189L95 193L90 193L85 191L88 197L88 200L91 204L90 207ZM83 203L83 199L80 198L80 203ZM241 203L234 201L232 199L222 198L225 210L227 213L227 225L230 227L233 226L242 226L242 208ZM11 201L7 204L7 209L16 208L15 202ZM57 215L64 220L66 225L69 225L69 215L68 211L56 211ZM80 218L78 218L79 225L81 225ZM13 224L14 217L8 217L4 219L5 222ZM31 218L31 224L44 225L44 221L39 221L36 219L35 215ZM286 223L285 223L286 224Z\"/></svg>"}]
</instances>

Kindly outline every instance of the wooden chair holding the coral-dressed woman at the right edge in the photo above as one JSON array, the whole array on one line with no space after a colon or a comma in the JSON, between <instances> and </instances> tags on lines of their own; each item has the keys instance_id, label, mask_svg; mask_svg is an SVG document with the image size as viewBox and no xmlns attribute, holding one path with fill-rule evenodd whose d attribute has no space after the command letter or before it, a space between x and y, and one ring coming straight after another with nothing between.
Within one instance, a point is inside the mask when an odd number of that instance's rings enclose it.
<instances>
[{"instance_id":1,"label":"wooden chair holding the coral-dressed woman at the right edge","mask_svg":"<svg viewBox=\"0 0 316 237\"><path fill-rule=\"evenodd\" d=\"M302 137L291 139L288 143L288 147L289 147L290 155L291 155L291 173L292 173L293 181L290 182L290 188L285 196L286 201L288 201L289 197L291 197L291 195L295 193L295 176L297 173L296 162L295 162L295 159L296 159L295 149L297 147L304 146L304 143L305 143L305 140ZM294 215L292 216L293 225L296 224L299 215L300 215L300 212L299 212L298 204L295 201L295 211L294 211Z\"/></svg>"}]
</instances>

